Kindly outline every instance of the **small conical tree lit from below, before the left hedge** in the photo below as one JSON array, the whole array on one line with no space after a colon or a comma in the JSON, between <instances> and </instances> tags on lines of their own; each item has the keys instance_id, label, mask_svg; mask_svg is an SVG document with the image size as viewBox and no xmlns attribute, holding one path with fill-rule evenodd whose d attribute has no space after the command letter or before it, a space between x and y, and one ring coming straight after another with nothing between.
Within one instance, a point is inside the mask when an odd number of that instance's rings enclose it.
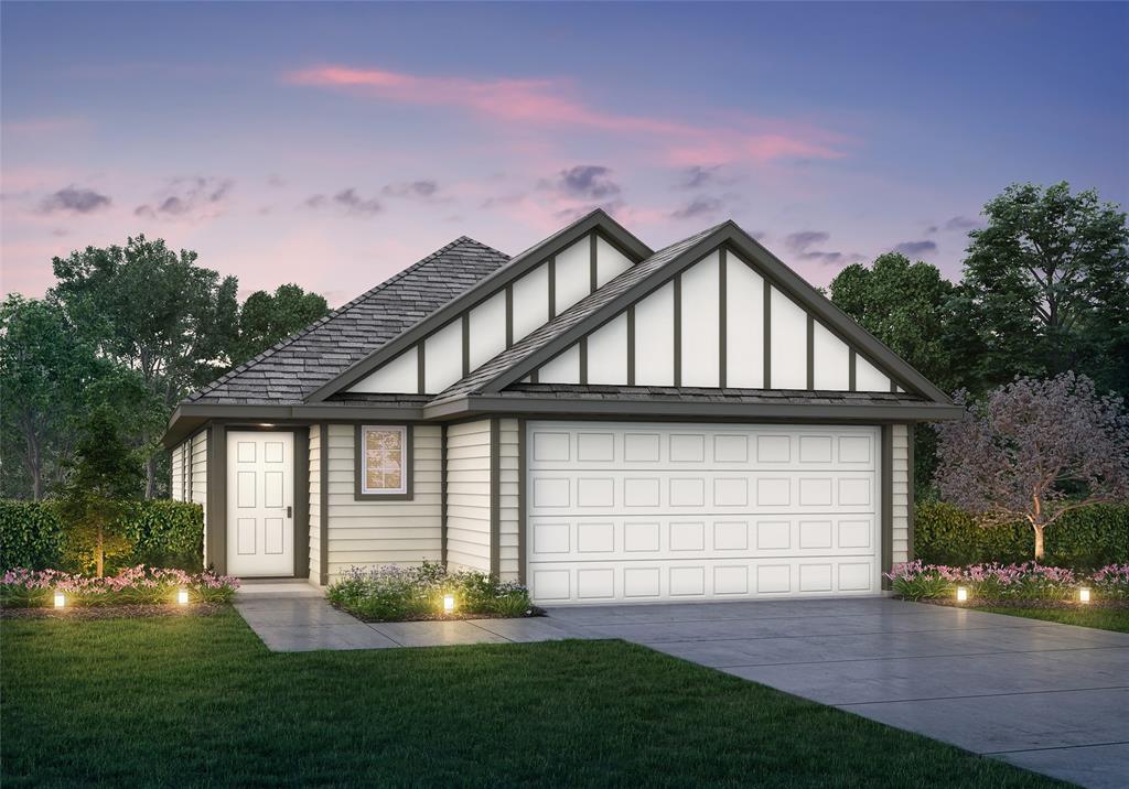
<instances>
[{"instance_id":1,"label":"small conical tree lit from below, before the left hedge","mask_svg":"<svg viewBox=\"0 0 1129 789\"><path fill-rule=\"evenodd\" d=\"M107 555L124 553L130 545L114 526L142 491L142 462L122 435L121 417L108 403L90 414L77 448L77 461L68 475L59 511L71 550L96 575L104 575Z\"/></svg>"}]
</instances>

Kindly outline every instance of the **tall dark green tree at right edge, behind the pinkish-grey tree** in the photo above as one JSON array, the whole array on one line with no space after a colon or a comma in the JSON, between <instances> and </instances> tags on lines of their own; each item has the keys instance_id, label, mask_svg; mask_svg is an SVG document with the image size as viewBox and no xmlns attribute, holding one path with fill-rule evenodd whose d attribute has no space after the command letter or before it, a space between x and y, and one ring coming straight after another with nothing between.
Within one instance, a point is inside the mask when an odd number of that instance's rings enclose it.
<instances>
[{"instance_id":1,"label":"tall dark green tree at right edge, behind the pinkish-grey tree","mask_svg":"<svg viewBox=\"0 0 1129 789\"><path fill-rule=\"evenodd\" d=\"M1064 182L1012 185L983 214L988 226L969 234L960 293L983 348L983 384L1074 369L1103 389L1129 388L1124 212Z\"/></svg>"}]
</instances>

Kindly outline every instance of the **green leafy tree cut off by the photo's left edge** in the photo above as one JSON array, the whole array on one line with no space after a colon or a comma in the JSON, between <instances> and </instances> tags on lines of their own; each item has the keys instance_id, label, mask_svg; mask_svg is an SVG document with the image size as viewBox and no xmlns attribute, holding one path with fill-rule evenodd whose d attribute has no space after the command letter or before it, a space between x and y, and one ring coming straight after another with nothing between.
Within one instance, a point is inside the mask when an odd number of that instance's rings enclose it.
<instances>
[{"instance_id":1,"label":"green leafy tree cut off by the photo's left edge","mask_svg":"<svg viewBox=\"0 0 1129 789\"><path fill-rule=\"evenodd\" d=\"M42 499L60 480L85 415L86 392L106 370L58 305L16 293L0 305L3 462L9 452L18 457L29 483L25 496ZM10 472L5 476L11 479Z\"/></svg>"}]
</instances>

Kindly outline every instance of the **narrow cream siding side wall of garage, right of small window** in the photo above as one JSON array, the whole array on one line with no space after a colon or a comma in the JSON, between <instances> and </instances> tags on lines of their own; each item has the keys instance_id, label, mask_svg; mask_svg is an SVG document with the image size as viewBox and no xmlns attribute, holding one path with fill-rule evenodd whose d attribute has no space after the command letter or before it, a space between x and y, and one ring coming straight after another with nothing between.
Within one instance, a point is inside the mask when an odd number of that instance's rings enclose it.
<instances>
[{"instance_id":1,"label":"narrow cream siding side wall of garage, right of small window","mask_svg":"<svg viewBox=\"0 0 1129 789\"><path fill-rule=\"evenodd\" d=\"M450 570L490 572L490 420L452 424L447 428Z\"/></svg>"}]
</instances>

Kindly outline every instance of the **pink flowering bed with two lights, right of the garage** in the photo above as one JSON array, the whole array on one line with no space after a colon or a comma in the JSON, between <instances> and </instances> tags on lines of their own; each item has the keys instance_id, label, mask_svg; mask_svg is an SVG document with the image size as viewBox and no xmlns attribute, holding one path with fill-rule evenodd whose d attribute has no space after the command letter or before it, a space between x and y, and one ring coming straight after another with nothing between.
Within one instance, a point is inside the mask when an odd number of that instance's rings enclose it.
<instances>
[{"instance_id":1,"label":"pink flowering bed with two lights, right of the garage","mask_svg":"<svg viewBox=\"0 0 1129 789\"><path fill-rule=\"evenodd\" d=\"M1035 562L947 567L913 561L885 575L894 593L910 600L952 598L957 588L978 603L1066 604L1078 600L1084 588L1094 602L1129 600L1129 564L1109 564L1086 575Z\"/></svg>"}]
</instances>

